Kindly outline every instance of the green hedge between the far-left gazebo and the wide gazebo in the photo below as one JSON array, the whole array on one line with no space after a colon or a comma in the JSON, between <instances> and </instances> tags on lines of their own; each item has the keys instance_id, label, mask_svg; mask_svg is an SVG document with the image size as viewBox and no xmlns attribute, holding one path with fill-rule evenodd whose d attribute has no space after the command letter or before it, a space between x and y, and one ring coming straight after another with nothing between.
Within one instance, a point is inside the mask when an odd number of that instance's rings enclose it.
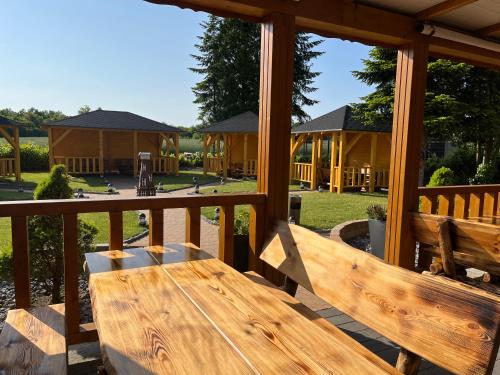
<instances>
[{"instance_id":1,"label":"green hedge between the far-left gazebo and the wide gazebo","mask_svg":"<svg viewBox=\"0 0 500 375\"><path fill-rule=\"evenodd\" d=\"M9 144L0 145L0 158L13 158L14 149ZM49 147L34 143L21 144L21 170L39 172L49 170Z\"/></svg>"}]
</instances>

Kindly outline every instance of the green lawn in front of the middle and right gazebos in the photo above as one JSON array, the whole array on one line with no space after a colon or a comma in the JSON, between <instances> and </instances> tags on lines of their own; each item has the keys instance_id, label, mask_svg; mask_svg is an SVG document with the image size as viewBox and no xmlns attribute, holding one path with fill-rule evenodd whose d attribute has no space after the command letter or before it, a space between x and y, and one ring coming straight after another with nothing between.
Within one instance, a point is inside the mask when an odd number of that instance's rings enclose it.
<instances>
[{"instance_id":1,"label":"green lawn in front of the middle and right gazebos","mask_svg":"<svg viewBox=\"0 0 500 375\"><path fill-rule=\"evenodd\" d=\"M290 186L292 190L294 185ZM211 193L214 188L203 189L204 193ZM250 192L256 190L254 181L233 182L224 186L217 186L219 193ZM300 194L297 192L296 194ZM331 229L337 224L348 220L359 220L366 218L366 207L371 203L387 205L387 195L383 193L343 193L330 192L303 192L302 211L300 222L302 226L310 229ZM237 206L235 216L247 206ZM205 207L202 214L213 219L214 208Z\"/></svg>"}]
</instances>

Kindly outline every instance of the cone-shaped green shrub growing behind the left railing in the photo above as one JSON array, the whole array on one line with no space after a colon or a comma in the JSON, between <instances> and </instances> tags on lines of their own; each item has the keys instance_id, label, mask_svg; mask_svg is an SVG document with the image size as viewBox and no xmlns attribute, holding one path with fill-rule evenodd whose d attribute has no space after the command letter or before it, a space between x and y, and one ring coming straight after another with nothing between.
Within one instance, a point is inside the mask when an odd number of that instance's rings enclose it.
<instances>
[{"instance_id":1,"label":"cone-shaped green shrub growing behind the left railing","mask_svg":"<svg viewBox=\"0 0 500 375\"><path fill-rule=\"evenodd\" d=\"M72 190L64 165L55 165L49 176L38 184L35 199L69 199ZM78 220L79 254L93 250L97 228ZM35 279L50 290L52 303L61 302L64 277L63 220L61 216L34 216L29 219L31 271ZM80 261L82 257L79 257ZM82 267L79 267L81 269Z\"/></svg>"}]
</instances>

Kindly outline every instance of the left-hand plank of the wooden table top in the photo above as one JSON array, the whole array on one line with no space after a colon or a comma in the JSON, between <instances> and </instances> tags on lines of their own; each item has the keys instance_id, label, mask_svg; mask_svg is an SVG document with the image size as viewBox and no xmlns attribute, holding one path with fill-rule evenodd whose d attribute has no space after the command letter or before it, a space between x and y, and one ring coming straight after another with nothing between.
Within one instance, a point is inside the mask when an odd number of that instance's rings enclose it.
<instances>
[{"instance_id":1,"label":"left-hand plank of the wooden table top","mask_svg":"<svg viewBox=\"0 0 500 375\"><path fill-rule=\"evenodd\" d=\"M143 249L87 254L86 260L108 373L253 373Z\"/></svg>"}]
</instances>

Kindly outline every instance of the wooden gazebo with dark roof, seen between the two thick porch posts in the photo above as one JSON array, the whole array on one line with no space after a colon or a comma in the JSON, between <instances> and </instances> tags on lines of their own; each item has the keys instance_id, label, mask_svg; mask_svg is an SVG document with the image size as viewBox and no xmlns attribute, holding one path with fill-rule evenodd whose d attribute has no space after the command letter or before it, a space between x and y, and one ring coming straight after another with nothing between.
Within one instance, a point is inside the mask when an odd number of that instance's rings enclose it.
<instances>
[{"instance_id":1,"label":"wooden gazebo with dark roof, seen between the two thick porch posts","mask_svg":"<svg viewBox=\"0 0 500 375\"><path fill-rule=\"evenodd\" d=\"M389 185L391 152L390 124L366 126L353 118L352 108L340 107L292 129L290 179L307 182L311 189L329 185L330 191L344 188L375 188ZM312 138L311 162L294 157ZM327 140L330 162L323 161Z\"/></svg>"}]
</instances>

